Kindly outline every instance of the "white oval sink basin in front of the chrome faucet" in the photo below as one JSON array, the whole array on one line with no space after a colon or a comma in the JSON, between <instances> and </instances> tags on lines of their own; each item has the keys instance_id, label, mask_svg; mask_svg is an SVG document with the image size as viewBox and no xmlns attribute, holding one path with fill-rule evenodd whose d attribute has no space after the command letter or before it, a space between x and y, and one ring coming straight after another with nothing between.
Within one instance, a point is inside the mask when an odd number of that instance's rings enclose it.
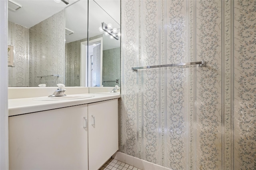
<instances>
[{"instance_id":1,"label":"white oval sink basin in front of the chrome faucet","mask_svg":"<svg viewBox=\"0 0 256 170\"><path fill-rule=\"evenodd\" d=\"M94 97L92 94L83 94L83 95L66 95L61 97L37 97L33 100L70 100L70 99L84 99L84 98L90 98Z\"/></svg>"}]
</instances>

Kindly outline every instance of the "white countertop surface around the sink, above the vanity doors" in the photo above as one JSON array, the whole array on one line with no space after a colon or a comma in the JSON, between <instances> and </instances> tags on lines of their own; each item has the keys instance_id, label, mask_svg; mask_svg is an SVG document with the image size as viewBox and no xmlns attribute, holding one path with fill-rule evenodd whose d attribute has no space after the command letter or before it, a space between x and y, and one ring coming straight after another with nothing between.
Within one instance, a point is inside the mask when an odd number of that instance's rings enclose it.
<instances>
[{"instance_id":1,"label":"white countertop surface around the sink, above the vanity doors","mask_svg":"<svg viewBox=\"0 0 256 170\"><path fill-rule=\"evenodd\" d=\"M50 109L58 109L62 107L70 107L75 105L82 105L88 103L95 103L110 99L120 98L120 94L93 94L94 97L84 99L68 99L68 100L55 100L55 101L37 101L33 100L36 97L23 98L23 99L9 99L8 108L9 116L22 115L26 113L33 113L38 111L46 111Z\"/></svg>"}]
</instances>

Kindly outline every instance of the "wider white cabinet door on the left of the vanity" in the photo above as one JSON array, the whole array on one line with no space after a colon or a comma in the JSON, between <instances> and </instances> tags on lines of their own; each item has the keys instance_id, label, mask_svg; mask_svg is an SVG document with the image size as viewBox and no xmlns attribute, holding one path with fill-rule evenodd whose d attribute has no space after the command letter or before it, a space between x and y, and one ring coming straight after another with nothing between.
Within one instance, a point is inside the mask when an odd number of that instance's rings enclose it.
<instances>
[{"instance_id":1,"label":"wider white cabinet door on the left of the vanity","mask_svg":"<svg viewBox=\"0 0 256 170\"><path fill-rule=\"evenodd\" d=\"M9 117L11 169L87 170L88 105Z\"/></svg>"}]
</instances>

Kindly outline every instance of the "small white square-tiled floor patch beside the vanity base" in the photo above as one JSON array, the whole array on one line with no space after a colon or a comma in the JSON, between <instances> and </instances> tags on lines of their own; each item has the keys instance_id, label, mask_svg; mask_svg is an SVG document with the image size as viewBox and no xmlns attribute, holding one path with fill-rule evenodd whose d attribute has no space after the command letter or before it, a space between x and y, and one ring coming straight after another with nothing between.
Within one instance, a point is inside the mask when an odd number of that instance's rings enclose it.
<instances>
[{"instance_id":1,"label":"small white square-tiled floor patch beside the vanity base","mask_svg":"<svg viewBox=\"0 0 256 170\"><path fill-rule=\"evenodd\" d=\"M106 164L104 164L100 170L140 170L134 166L129 164L125 164L124 162L120 162L119 160L110 158Z\"/></svg>"}]
</instances>

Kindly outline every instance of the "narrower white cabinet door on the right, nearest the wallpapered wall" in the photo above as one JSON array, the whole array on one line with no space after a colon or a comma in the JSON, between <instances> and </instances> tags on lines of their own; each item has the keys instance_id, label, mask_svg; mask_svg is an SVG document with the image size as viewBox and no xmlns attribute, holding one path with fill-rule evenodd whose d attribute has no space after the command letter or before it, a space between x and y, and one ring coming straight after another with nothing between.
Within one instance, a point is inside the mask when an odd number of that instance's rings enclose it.
<instances>
[{"instance_id":1,"label":"narrower white cabinet door on the right, nearest the wallpapered wall","mask_svg":"<svg viewBox=\"0 0 256 170\"><path fill-rule=\"evenodd\" d=\"M89 170L97 170L118 150L118 99L88 104Z\"/></svg>"}]
</instances>

